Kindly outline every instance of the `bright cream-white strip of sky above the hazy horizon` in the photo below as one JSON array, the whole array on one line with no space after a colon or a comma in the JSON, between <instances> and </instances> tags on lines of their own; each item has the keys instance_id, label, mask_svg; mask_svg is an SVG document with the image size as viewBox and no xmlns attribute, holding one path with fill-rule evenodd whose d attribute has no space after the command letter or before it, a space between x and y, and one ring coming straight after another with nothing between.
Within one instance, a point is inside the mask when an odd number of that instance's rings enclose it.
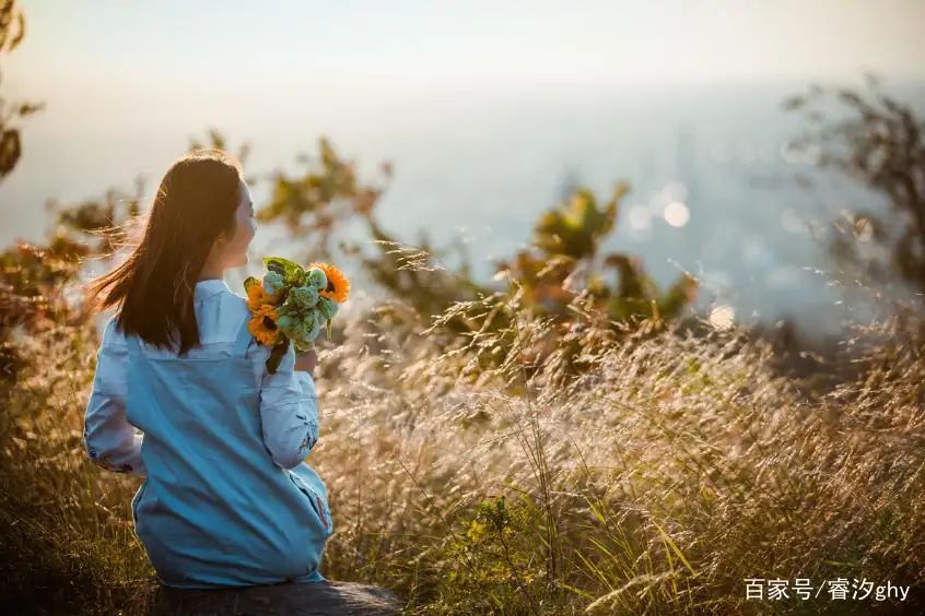
<instances>
[{"instance_id":1,"label":"bright cream-white strip of sky above the hazy horizon","mask_svg":"<svg viewBox=\"0 0 925 616\"><path fill-rule=\"evenodd\" d=\"M925 78L916 0L22 1L12 83Z\"/></svg>"}]
</instances>

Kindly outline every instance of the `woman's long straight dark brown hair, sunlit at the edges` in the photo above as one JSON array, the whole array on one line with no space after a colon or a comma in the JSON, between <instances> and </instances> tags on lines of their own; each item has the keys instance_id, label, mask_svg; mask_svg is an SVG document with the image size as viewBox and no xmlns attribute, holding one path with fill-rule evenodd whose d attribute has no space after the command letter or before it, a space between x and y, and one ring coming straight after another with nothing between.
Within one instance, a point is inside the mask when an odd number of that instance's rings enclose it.
<instances>
[{"instance_id":1,"label":"woman's long straight dark brown hair, sunlit at the edges","mask_svg":"<svg viewBox=\"0 0 925 616\"><path fill-rule=\"evenodd\" d=\"M148 213L144 237L113 271L84 285L90 306L118 306L117 328L178 354L199 345L196 282L220 234L233 234L241 163L221 150L175 161Z\"/></svg>"}]
</instances>

